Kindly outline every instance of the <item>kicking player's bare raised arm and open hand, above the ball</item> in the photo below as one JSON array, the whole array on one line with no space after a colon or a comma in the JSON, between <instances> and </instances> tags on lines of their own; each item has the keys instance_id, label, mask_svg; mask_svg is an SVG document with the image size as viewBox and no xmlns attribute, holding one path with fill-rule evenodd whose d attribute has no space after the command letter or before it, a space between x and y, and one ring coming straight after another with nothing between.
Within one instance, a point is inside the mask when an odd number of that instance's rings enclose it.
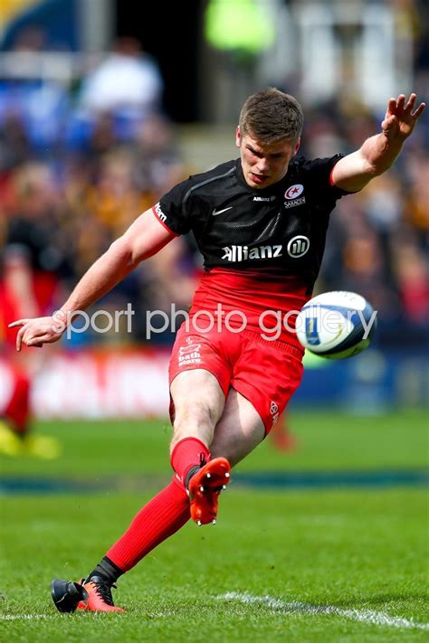
<instances>
[{"instance_id":1,"label":"kicking player's bare raised arm and open hand, above the ball","mask_svg":"<svg viewBox=\"0 0 429 643\"><path fill-rule=\"evenodd\" d=\"M415 94L411 94L408 100L401 94L397 99L388 101L380 134L367 138L357 152L338 161L332 171L335 185L349 192L358 192L372 178L383 174L393 165L405 139L412 134L424 112L424 103L415 109L416 99Z\"/></svg>"}]
</instances>

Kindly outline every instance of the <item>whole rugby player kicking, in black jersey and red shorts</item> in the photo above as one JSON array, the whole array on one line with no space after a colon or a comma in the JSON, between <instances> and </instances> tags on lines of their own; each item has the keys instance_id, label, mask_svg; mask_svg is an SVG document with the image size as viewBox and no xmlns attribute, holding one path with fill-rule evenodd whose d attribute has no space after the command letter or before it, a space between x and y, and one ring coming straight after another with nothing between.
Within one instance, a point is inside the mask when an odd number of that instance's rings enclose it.
<instances>
[{"instance_id":1,"label":"whole rugby player kicking, in black jersey and red shorts","mask_svg":"<svg viewBox=\"0 0 429 643\"><path fill-rule=\"evenodd\" d=\"M303 349L293 319L279 329L263 314L286 316L311 297L329 214L339 198L394 163L424 111L424 103L415 105L415 94L390 99L381 131L356 152L306 160L297 156L297 100L273 88L254 94L236 128L238 159L191 176L141 214L54 318L14 322L21 326L18 351L55 342L74 311L91 306L176 235L192 231L203 254L205 272L169 367L174 478L85 579L52 582L59 610L122 611L111 595L121 574L190 517L198 525L215 522L231 468L269 433L300 384Z\"/></svg>"}]
</instances>

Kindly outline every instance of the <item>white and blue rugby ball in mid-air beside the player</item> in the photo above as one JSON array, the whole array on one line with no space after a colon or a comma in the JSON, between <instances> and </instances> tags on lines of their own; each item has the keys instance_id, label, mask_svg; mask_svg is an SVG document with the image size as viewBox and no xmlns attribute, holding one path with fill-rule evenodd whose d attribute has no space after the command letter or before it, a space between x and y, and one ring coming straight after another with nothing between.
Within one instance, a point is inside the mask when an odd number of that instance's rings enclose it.
<instances>
[{"instance_id":1,"label":"white and blue rugby ball in mid-air beside the player","mask_svg":"<svg viewBox=\"0 0 429 643\"><path fill-rule=\"evenodd\" d=\"M377 311L356 292L334 290L310 299L296 319L300 344L320 357L358 355L377 327Z\"/></svg>"}]
</instances>

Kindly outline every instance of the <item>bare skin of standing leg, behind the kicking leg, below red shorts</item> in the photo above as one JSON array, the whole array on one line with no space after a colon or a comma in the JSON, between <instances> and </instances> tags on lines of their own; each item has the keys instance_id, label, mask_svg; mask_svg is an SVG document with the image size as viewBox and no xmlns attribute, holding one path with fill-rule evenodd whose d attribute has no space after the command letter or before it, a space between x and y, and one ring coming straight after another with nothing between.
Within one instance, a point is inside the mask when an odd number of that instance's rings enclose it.
<instances>
[{"instance_id":1,"label":"bare skin of standing leg, behind the kicking leg, below red shorts","mask_svg":"<svg viewBox=\"0 0 429 643\"><path fill-rule=\"evenodd\" d=\"M258 446L265 428L253 404L231 388L210 447L212 458L224 457L234 467Z\"/></svg>"}]
</instances>

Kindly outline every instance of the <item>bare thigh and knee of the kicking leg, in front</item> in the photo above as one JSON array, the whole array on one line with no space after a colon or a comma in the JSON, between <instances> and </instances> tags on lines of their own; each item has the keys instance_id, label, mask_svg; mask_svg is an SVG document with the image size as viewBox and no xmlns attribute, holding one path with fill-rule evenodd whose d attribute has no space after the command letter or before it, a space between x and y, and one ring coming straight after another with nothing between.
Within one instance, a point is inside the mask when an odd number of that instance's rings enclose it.
<instances>
[{"instance_id":1,"label":"bare thigh and knee of the kicking leg, in front","mask_svg":"<svg viewBox=\"0 0 429 643\"><path fill-rule=\"evenodd\" d=\"M170 385L174 405L172 448L178 440L195 437L210 445L224 411L224 391L217 378L202 368L176 375Z\"/></svg>"}]
</instances>

